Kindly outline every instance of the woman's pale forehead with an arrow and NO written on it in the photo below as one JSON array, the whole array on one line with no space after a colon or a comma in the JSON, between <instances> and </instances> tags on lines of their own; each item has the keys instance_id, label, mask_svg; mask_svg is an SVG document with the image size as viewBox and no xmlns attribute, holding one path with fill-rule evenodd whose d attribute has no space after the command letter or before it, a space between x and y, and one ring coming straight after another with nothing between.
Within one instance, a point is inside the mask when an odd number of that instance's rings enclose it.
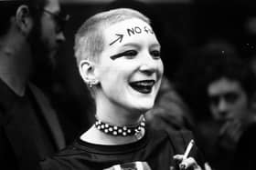
<instances>
[{"instance_id":1,"label":"woman's pale forehead with an arrow and NO written on it","mask_svg":"<svg viewBox=\"0 0 256 170\"><path fill-rule=\"evenodd\" d=\"M152 27L141 19L131 18L107 27L104 31L107 45L123 45L134 40L149 38L156 41Z\"/></svg>"}]
</instances>

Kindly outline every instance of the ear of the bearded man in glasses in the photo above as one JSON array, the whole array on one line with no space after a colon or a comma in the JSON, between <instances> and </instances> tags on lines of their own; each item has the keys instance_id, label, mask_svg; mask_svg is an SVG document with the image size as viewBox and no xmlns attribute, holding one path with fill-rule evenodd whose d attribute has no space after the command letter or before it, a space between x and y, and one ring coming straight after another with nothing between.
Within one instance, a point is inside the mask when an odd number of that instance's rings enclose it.
<instances>
[{"instance_id":1,"label":"ear of the bearded man in glasses","mask_svg":"<svg viewBox=\"0 0 256 170\"><path fill-rule=\"evenodd\" d=\"M16 10L16 25L27 36L33 27L33 20L27 5L20 5Z\"/></svg>"}]
</instances>

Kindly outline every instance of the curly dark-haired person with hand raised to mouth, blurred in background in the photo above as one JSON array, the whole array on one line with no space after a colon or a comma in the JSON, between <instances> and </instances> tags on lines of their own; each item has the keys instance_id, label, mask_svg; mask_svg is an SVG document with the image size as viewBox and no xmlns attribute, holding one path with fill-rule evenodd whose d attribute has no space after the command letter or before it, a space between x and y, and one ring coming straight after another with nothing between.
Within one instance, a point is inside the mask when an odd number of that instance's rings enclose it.
<instances>
[{"instance_id":1,"label":"curly dark-haired person with hand raised to mouth, blurred in background","mask_svg":"<svg viewBox=\"0 0 256 170\"><path fill-rule=\"evenodd\" d=\"M181 67L182 96L189 96L197 145L212 168L229 169L240 136L256 120L255 76L230 45L206 45L191 54L187 62L194 63Z\"/></svg>"}]
</instances>

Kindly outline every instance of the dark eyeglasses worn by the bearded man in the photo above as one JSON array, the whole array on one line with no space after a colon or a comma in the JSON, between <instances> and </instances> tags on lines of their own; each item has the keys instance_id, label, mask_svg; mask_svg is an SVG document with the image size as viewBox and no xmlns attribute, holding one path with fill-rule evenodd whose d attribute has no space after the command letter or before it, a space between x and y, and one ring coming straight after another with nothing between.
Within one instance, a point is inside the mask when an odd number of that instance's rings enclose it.
<instances>
[{"instance_id":1,"label":"dark eyeglasses worn by the bearded man","mask_svg":"<svg viewBox=\"0 0 256 170\"><path fill-rule=\"evenodd\" d=\"M47 9L43 9L43 12L52 16L54 21L56 22L56 32L59 33L64 30L66 23L69 21L69 15L64 14L63 12L60 13L52 13Z\"/></svg>"}]
</instances>

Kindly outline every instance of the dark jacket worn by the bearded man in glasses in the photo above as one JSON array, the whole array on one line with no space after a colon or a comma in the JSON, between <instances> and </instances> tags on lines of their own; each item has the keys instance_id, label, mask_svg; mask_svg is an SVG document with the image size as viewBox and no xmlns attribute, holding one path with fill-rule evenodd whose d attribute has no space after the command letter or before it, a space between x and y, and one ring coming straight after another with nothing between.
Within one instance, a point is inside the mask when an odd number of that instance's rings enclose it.
<instances>
[{"instance_id":1,"label":"dark jacket worn by the bearded man in glasses","mask_svg":"<svg viewBox=\"0 0 256 170\"><path fill-rule=\"evenodd\" d=\"M59 150L43 105L28 86L26 94L18 96L1 79L0 94L0 169L35 170L40 160Z\"/></svg>"}]
</instances>

